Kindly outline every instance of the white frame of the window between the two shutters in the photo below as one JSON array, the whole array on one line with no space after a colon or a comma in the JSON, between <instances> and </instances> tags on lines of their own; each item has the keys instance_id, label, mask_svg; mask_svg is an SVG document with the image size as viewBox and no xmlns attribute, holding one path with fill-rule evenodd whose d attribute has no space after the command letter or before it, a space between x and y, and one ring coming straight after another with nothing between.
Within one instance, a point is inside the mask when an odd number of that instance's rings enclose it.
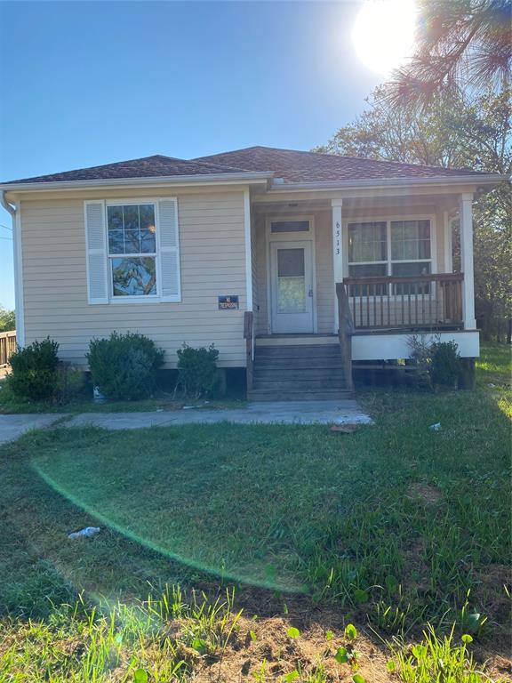
<instances>
[{"instance_id":1,"label":"white frame of the window between the two shutters","mask_svg":"<svg viewBox=\"0 0 512 683\"><path fill-rule=\"evenodd\" d=\"M171 197L172 198L172 197ZM160 215L158 213L159 198L142 197L137 199L125 199L118 197L115 199L105 199L105 258L107 259L108 276L108 303L130 304L130 303L156 303L162 300L162 274L160 269ZM156 252L155 253L110 253L108 245L108 206L138 206L141 204L151 204L155 209L155 228L156 228ZM156 294L131 294L128 296L114 295L114 282L112 279L112 261L115 258L155 258L156 270Z\"/></svg>"}]
</instances>

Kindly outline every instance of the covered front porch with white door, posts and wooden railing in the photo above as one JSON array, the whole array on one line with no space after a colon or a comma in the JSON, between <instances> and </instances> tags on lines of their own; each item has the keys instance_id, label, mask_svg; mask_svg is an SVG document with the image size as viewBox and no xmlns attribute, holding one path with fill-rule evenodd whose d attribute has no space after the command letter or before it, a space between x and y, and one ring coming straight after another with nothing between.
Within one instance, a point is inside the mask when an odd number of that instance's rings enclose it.
<instances>
[{"instance_id":1,"label":"covered front porch with white door, posts and wooden railing","mask_svg":"<svg viewBox=\"0 0 512 683\"><path fill-rule=\"evenodd\" d=\"M441 187L252 197L248 366L254 348L336 344L351 390L352 360L407 358L411 334L456 341L475 358L472 200Z\"/></svg>"}]
</instances>

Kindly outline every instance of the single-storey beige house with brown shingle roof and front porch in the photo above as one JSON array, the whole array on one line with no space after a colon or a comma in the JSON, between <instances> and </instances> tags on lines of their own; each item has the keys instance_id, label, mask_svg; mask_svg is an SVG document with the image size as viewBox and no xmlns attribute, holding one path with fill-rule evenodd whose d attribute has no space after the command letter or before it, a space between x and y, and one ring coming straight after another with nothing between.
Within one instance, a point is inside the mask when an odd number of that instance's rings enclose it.
<instances>
[{"instance_id":1,"label":"single-storey beige house with brown shingle roof and front porch","mask_svg":"<svg viewBox=\"0 0 512 683\"><path fill-rule=\"evenodd\" d=\"M329 398L352 364L438 333L478 356L471 170L252 147L156 155L0 185L14 225L20 344L139 331L214 343L251 398ZM460 219L460 272L452 221Z\"/></svg>"}]
</instances>

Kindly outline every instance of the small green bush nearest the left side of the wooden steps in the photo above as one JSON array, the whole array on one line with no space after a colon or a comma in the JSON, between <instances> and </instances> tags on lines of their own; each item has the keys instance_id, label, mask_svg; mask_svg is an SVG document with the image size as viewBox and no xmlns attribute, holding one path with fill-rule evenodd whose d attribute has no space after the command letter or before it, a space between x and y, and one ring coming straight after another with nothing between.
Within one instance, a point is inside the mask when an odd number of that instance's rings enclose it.
<instances>
[{"instance_id":1,"label":"small green bush nearest the left side of the wooden steps","mask_svg":"<svg viewBox=\"0 0 512 683\"><path fill-rule=\"evenodd\" d=\"M217 384L219 351L213 346L178 350L178 386L191 398L211 396Z\"/></svg>"}]
</instances>

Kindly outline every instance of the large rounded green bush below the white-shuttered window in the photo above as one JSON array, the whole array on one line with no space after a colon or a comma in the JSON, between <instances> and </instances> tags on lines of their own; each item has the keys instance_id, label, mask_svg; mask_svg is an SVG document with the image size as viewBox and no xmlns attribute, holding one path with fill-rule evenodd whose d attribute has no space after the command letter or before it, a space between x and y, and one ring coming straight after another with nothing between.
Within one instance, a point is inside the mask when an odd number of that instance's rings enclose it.
<instances>
[{"instance_id":1,"label":"large rounded green bush below the white-shuttered window","mask_svg":"<svg viewBox=\"0 0 512 683\"><path fill-rule=\"evenodd\" d=\"M137 333L112 333L93 339L87 354L93 386L107 398L133 401L147 398L156 387L156 371L164 351Z\"/></svg>"}]
</instances>

